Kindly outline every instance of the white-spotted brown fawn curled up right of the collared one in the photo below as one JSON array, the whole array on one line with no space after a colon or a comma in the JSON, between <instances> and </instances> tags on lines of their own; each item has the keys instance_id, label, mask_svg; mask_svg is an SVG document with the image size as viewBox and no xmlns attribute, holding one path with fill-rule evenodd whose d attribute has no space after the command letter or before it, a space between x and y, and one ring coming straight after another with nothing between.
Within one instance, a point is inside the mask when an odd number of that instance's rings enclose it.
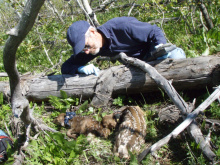
<instances>
[{"instance_id":1,"label":"white-spotted brown fawn curled up right of the collared one","mask_svg":"<svg viewBox=\"0 0 220 165\"><path fill-rule=\"evenodd\" d=\"M114 154L129 158L128 150L139 152L145 142L146 122L144 112L138 106L127 107L120 118L119 131L114 145Z\"/></svg>"}]
</instances>

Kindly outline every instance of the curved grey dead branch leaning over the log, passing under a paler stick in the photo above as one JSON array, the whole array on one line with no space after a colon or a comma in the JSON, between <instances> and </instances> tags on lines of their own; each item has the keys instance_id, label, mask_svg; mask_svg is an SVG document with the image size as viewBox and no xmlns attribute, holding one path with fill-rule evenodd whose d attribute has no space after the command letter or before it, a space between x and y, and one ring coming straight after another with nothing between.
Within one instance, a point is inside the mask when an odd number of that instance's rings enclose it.
<instances>
[{"instance_id":1,"label":"curved grey dead branch leaning over the log, passing under a paler stick","mask_svg":"<svg viewBox=\"0 0 220 165\"><path fill-rule=\"evenodd\" d=\"M135 59L135 58L131 58L131 57L127 57L125 53L120 53L119 54L120 58L122 59L122 61L127 62L129 64L132 64L134 66L139 67L140 69L142 69L144 72L148 73L149 76L160 86L162 87L165 92L168 94L168 96L170 97L170 99L173 101L173 103L181 110L181 112L186 115L188 112L191 112L192 107L190 108L185 101L181 98L181 96L179 96L179 94L176 92L176 90L173 88L173 86L163 77L161 76L157 70L155 68L153 68L152 66L150 66L149 64ZM216 97L217 99L218 97ZM197 114L198 115L198 114ZM193 119L192 119L193 120ZM192 122L192 121L191 121ZM191 123L190 122L190 123ZM189 124L190 124L189 123ZM188 126L188 125L187 125ZM185 128L184 128L185 129ZM196 129L197 132L195 133L194 130L192 129ZM181 131L182 132L182 131ZM197 127L197 125L195 123L193 123L192 125L190 125L189 127L189 132L191 133L191 135L194 137L194 139L196 140L196 142L198 144L201 144L201 149L203 151L203 153L208 157L209 160L214 159L215 154L211 151L210 146L207 146L206 143L204 142L203 139L203 135L200 131L200 129ZM175 136L168 135L167 138L165 139L165 142L168 143L169 140ZM147 149L147 151L150 151ZM142 160L142 159L141 159ZM140 160L140 161L141 161Z\"/></svg>"}]
</instances>

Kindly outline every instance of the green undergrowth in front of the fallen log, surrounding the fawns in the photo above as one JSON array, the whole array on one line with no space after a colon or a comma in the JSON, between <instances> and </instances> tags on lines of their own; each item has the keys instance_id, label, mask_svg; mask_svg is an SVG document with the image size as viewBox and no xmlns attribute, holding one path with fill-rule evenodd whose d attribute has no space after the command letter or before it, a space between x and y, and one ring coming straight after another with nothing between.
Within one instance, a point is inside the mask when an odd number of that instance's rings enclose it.
<instances>
[{"instance_id":1,"label":"green undergrowth in front of the fallen log, surrounding the fawns","mask_svg":"<svg viewBox=\"0 0 220 165\"><path fill-rule=\"evenodd\" d=\"M77 140L70 139L66 136L66 128L61 128L53 123L53 119L61 112L75 111L82 115L91 115L96 120L101 121L101 117L106 114L110 114L114 109L120 108L124 104L137 105L136 99L129 97L117 97L113 100L112 107L109 109L96 109L90 107L88 101L79 102L79 98L66 97L65 92L61 91L62 98L51 96L49 102L42 104L35 104L34 115L37 118L41 118L47 125L58 130L58 133L46 134L40 132L38 138L31 139L29 146L25 150L25 164L137 164L137 155L132 154L130 160L120 159L114 156L112 149L114 145L114 132L108 139L103 138L90 138L88 140L84 135L80 135ZM140 97L142 97L141 95ZM207 94L203 95L204 97ZM158 118L158 111L160 108L170 103L170 100L163 97L164 102L149 104L147 100L144 100L141 105L145 112L145 120L147 124L147 136L145 138L146 143L143 147L149 147L156 143L164 136L169 134L177 124L161 123ZM130 101L132 100L132 102ZM201 98L201 101L203 99ZM30 103L30 107L33 107L33 103ZM48 108L49 107L49 108ZM77 107L77 108L76 108ZM218 102L213 102L212 105L205 111L204 118L218 119L220 120L220 106ZM10 116L12 115L11 108L8 104L1 99L0 109L0 124L7 126L10 130ZM207 135L210 129L212 129L211 139L212 143L217 146L214 150L216 154L216 161L220 158L220 136L219 127L205 127L204 121L200 121L202 131L204 135ZM6 131L6 127L2 127ZM9 134L13 137L12 133ZM32 132L32 136L36 135L36 132ZM15 140L15 147L8 149L9 159L5 164L12 164L14 161L13 156L17 154L18 141ZM179 135L176 139L173 139L167 145L164 145L160 150L156 152L156 157L148 155L142 164L207 164L209 163L201 153L199 145L197 145L187 132Z\"/></svg>"}]
</instances>

